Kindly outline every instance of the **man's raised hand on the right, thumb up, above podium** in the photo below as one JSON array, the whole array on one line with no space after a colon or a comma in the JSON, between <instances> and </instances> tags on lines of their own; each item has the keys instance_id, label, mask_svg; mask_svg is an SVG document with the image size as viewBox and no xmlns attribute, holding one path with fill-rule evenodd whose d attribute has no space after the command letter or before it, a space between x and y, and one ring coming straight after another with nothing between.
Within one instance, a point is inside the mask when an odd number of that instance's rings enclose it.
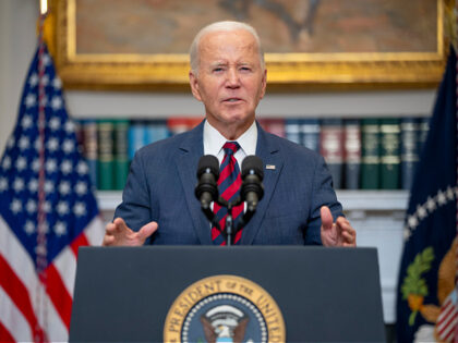
<instances>
[{"instance_id":1,"label":"man's raised hand on the right, thumb up, above podium","mask_svg":"<svg viewBox=\"0 0 458 343\"><path fill-rule=\"evenodd\" d=\"M333 215L327 206L321 208L321 216L324 246L357 246L357 232L346 218L339 217L333 222Z\"/></svg>"}]
</instances>

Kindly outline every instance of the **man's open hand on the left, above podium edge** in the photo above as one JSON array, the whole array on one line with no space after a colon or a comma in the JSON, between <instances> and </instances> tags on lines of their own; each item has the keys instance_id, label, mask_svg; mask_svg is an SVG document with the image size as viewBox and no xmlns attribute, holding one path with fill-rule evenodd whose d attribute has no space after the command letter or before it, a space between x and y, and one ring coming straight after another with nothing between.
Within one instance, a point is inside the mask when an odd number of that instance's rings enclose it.
<instances>
[{"instance_id":1,"label":"man's open hand on the left, above podium edge","mask_svg":"<svg viewBox=\"0 0 458 343\"><path fill-rule=\"evenodd\" d=\"M104 246L140 246L145 243L156 230L157 222L152 221L137 232L128 228L122 218L117 218L105 228Z\"/></svg>"}]
</instances>

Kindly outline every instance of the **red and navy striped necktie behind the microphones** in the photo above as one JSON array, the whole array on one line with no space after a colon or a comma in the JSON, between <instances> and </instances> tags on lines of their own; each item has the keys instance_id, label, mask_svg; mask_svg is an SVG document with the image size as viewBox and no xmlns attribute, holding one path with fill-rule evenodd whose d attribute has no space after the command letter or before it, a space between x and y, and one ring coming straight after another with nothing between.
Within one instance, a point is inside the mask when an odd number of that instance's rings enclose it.
<instances>
[{"instance_id":1,"label":"red and navy striped necktie behind the microphones","mask_svg":"<svg viewBox=\"0 0 458 343\"><path fill-rule=\"evenodd\" d=\"M240 193L240 186L242 185L242 177L240 175L240 168L237 163L234 154L239 150L240 145L237 142L226 142L222 146L225 150L225 157L221 166L219 167L219 179L218 179L218 191L219 195L227 201L233 201ZM218 204L214 204L213 211L219 222L221 232L226 230L226 217L228 210L226 207L221 207ZM237 218L243 213L243 203L232 208L233 218L233 230L237 226ZM212 228L212 240L213 244L226 245L225 235L219 232L216 226ZM240 230L233 240L234 244L238 244L242 236L242 230Z\"/></svg>"}]
</instances>

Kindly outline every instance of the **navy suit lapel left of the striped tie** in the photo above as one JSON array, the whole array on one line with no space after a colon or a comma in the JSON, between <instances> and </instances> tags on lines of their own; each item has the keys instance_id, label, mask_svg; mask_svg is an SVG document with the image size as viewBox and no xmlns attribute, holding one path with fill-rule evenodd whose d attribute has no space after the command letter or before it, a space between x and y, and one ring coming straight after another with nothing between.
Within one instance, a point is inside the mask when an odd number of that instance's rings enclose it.
<instances>
[{"instance_id":1,"label":"navy suit lapel left of the striped tie","mask_svg":"<svg viewBox=\"0 0 458 343\"><path fill-rule=\"evenodd\" d=\"M196 185L196 170L198 159L204 155L203 144L204 122L190 131L179 146L179 154L176 157L176 164L180 175L181 185L184 189L184 197L191 213L191 222L197 234L201 244L212 244L210 228L207 219L201 210L201 204L195 198L194 188ZM178 211L180 209L177 209Z\"/></svg>"}]
</instances>

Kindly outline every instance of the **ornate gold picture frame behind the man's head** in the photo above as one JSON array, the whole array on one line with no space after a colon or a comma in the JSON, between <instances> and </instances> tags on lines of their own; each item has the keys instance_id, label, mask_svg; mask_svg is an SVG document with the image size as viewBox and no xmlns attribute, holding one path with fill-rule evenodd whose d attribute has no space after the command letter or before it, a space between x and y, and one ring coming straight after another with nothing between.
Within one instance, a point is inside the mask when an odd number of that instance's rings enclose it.
<instances>
[{"instance_id":1,"label":"ornate gold picture frame behind the man's head","mask_svg":"<svg viewBox=\"0 0 458 343\"><path fill-rule=\"evenodd\" d=\"M100 1L100 0L99 0ZM191 1L191 0L186 0ZM269 89L433 87L442 78L447 44L444 0L436 1L436 47L400 52L266 52ZM116 1L114 1L116 2ZM114 3L112 2L112 3ZM132 1L129 1L132 2ZM55 59L67 88L188 88L188 53L83 53L76 50L79 0L55 1Z\"/></svg>"}]
</instances>

